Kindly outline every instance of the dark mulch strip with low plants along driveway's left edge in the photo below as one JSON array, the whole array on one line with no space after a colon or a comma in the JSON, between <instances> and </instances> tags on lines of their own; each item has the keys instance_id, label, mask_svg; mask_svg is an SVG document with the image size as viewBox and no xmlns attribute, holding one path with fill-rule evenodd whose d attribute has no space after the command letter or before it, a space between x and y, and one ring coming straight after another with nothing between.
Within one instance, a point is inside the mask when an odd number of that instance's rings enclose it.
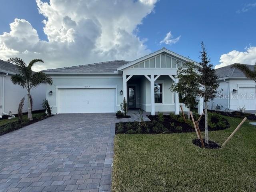
<instances>
[{"instance_id":1,"label":"dark mulch strip with low plants along driveway's left edge","mask_svg":"<svg viewBox=\"0 0 256 192\"><path fill-rule=\"evenodd\" d=\"M53 115L51 115L53 116ZM8 123L6 125L0 126L0 135L4 135L6 133L10 133L12 131L21 129L22 127L28 126L30 124L36 123L38 121L41 121L43 119L48 118L48 116L44 115L41 117L34 117L34 119L32 121L22 121L21 123L18 123L18 121L12 122L12 123Z\"/></svg>"}]
</instances>

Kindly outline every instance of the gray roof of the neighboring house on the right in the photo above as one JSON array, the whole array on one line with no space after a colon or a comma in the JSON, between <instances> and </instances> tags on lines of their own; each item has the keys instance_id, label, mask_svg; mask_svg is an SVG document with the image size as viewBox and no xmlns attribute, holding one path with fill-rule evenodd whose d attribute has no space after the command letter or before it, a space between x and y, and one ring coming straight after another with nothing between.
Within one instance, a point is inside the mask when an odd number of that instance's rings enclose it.
<instances>
[{"instance_id":1,"label":"gray roof of the neighboring house on the right","mask_svg":"<svg viewBox=\"0 0 256 192\"><path fill-rule=\"evenodd\" d=\"M247 64L245 64L247 65ZM232 65L215 69L218 78L224 77L245 77L244 73L236 68L231 68ZM251 70L254 70L254 65L247 65ZM246 77L245 77L246 78Z\"/></svg>"}]
</instances>

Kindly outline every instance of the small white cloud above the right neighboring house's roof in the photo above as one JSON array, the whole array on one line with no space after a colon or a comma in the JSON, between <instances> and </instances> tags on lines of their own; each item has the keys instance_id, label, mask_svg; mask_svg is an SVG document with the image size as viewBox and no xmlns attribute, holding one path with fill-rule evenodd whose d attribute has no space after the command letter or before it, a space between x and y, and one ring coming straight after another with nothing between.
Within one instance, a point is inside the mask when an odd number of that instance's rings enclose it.
<instances>
[{"instance_id":1,"label":"small white cloud above the right neighboring house's roof","mask_svg":"<svg viewBox=\"0 0 256 192\"><path fill-rule=\"evenodd\" d=\"M256 47L250 46L245 48L246 51L230 51L229 53L220 56L220 64L215 66L215 69L231 65L233 63L243 63L254 65L256 62Z\"/></svg>"}]
</instances>

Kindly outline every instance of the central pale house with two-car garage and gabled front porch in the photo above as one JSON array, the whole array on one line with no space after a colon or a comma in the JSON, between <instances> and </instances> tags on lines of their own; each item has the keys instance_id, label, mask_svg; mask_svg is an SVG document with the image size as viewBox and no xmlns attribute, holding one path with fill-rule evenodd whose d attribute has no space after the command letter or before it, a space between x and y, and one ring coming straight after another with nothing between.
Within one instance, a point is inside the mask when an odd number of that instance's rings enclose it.
<instances>
[{"instance_id":1,"label":"central pale house with two-car garage and gabled front porch","mask_svg":"<svg viewBox=\"0 0 256 192\"><path fill-rule=\"evenodd\" d=\"M165 48L134 61L107 61L48 69L53 79L47 85L52 113L114 113L123 98L128 108L144 111L180 111L178 93L169 87L177 68L189 59ZM196 62L195 62L196 63ZM198 63L196 63L198 64ZM202 113L202 99L199 111Z\"/></svg>"}]
</instances>

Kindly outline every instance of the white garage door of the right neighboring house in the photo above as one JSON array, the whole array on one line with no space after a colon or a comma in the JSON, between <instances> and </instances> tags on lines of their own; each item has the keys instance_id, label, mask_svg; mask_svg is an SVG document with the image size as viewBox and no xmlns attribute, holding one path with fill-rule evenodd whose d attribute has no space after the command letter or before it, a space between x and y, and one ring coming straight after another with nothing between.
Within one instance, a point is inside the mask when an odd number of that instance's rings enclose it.
<instances>
[{"instance_id":1,"label":"white garage door of the right neighboring house","mask_svg":"<svg viewBox=\"0 0 256 192\"><path fill-rule=\"evenodd\" d=\"M255 110L255 88L239 87L238 105L245 110Z\"/></svg>"}]
</instances>

